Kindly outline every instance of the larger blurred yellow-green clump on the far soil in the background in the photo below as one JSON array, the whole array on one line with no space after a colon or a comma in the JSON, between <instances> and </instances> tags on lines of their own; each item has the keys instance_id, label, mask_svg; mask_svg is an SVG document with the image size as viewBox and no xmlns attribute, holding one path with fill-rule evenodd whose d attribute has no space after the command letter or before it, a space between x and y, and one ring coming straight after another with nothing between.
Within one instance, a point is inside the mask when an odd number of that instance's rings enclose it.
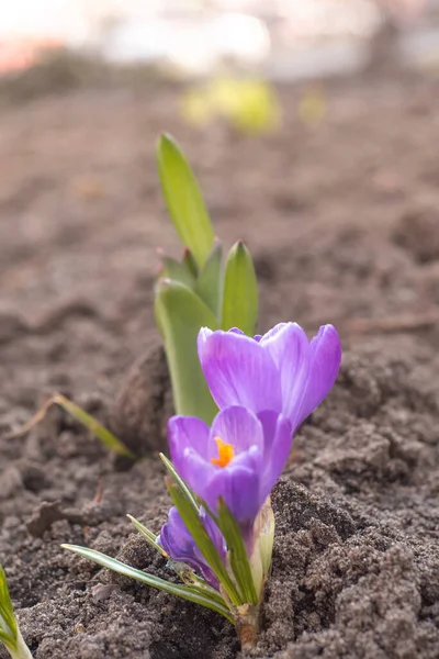
<instances>
[{"instance_id":1,"label":"larger blurred yellow-green clump on the far soil in the background","mask_svg":"<svg viewBox=\"0 0 439 659\"><path fill-rule=\"evenodd\" d=\"M273 88L264 80L217 77L189 89L181 99L183 119L194 125L222 118L246 134L274 131L281 108Z\"/></svg>"}]
</instances>

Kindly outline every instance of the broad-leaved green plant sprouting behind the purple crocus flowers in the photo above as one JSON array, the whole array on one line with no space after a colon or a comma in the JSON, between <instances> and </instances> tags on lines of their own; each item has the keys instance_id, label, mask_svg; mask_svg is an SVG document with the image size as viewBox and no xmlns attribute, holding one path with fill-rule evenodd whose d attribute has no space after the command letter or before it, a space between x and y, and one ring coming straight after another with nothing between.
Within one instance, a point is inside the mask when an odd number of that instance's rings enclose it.
<instances>
[{"instance_id":1,"label":"broad-leaved green plant sprouting behind the purple crocus flowers","mask_svg":"<svg viewBox=\"0 0 439 659\"><path fill-rule=\"evenodd\" d=\"M196 179L169 135L158 141L157 160L165 201L183 254L181 260L176 260L159 252L156 321L165 343L176 412L211 423L216 405L201 371L196 336L203 326L238 327L255 334L255 268L241 241L232 247L224 267L223 245L214 237Z\"/></svg>"}]
</instances>

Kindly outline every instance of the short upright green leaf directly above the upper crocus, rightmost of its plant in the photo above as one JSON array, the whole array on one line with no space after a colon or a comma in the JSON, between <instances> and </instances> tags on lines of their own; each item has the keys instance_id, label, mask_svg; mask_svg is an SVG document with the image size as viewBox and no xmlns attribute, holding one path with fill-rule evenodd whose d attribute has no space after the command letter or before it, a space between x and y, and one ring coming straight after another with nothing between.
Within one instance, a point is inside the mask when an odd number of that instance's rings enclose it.
<instances>
[{"instance_id":1,"label":"short upright green leaf directly above the upper crocus, rightmost of its plant","mask_svg":"<svg viewBox=\"0 0 439 659\"><path fill-rule=\"evenodd\" d=\"M239 327L252 336L258 321L258 283L255 267L241 241L232 247L226 261L223 297L223 330Z\"/></svg>"}]
</instances>

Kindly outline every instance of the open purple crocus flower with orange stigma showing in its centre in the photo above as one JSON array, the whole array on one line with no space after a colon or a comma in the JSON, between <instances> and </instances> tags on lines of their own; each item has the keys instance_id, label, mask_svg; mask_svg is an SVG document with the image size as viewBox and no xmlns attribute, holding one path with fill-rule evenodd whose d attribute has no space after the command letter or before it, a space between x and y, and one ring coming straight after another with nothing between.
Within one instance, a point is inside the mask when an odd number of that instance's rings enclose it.
<instances>
[{"instance_id":1,"label":"open purple crocus flower with orange stigma showing in its centre","mask_svg":"<svg viewBox=\"0 0 439 659\"><path fill-rule=\"evenodd\" d=\"M211 428L195 416L171 417L168 438L178 473L214 513L224 499L251 554L255 520L290 453L290 421L273 411L256 415L233 405L215 416Z\"/></svg>"}]
</instances>

